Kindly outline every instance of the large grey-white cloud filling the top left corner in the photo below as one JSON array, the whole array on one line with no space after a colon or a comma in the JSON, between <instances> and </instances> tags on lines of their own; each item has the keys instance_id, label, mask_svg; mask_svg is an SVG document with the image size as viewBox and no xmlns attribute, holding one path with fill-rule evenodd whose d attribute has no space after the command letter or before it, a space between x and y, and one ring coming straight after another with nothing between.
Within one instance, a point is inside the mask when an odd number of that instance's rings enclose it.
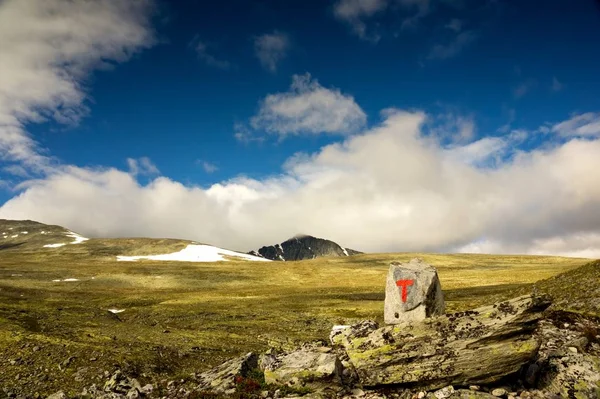
<instances>
[{"instance_id":1,"label":"large grey-white cloud filling the top left corner","mask_svg":"<svg viewBox=\"0 0 600 399\"><path fill-rule=\"evenodd\" d=\"M86 74L150 46L151 12L144 0L0 2L0 160L51 172L25 124L76 124L88 112Z\"/></svg>"}]
</instances>

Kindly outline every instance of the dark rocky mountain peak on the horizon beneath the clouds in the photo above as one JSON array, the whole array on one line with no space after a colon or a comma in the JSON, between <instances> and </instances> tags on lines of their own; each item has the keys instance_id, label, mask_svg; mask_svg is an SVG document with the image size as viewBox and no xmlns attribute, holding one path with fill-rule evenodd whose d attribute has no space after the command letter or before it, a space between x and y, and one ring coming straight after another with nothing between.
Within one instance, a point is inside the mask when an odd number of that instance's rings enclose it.
<instances>
[{"instance_id":1,"label":"dark rocky mountain peak on the horizon beneath the clouds","mask_svg":"<svg viewBox=\"0 0 600 399\"><path fill-rule=\"evenodd\" d=\"M342 248L333 241L308 235L297 235L281 244L269 245L249 254L280 261L314 259L323 256L351 256L361 254L349 248Z\"/></svg>"}]
</instances>

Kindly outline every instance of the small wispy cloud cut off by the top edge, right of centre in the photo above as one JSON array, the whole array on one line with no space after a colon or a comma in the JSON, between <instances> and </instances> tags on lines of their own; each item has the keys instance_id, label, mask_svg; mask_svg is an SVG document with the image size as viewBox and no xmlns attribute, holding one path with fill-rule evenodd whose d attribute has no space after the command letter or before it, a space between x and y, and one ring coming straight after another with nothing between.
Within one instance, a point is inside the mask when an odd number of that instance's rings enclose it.
<instances>
[{"instance_id":1,"label":"small wispy cloud cut off by the top edge, right of centre","mask_svg":"<svg viewBox=\"0 0 600 399\"><path fill-rule=\"evenodd\" d=\"M335 17L348 23L361 39L378 41L378 35L368 35L365 18L385 10L388 0L340 0L333 6Z\"/></svg>"}]
</instances>

